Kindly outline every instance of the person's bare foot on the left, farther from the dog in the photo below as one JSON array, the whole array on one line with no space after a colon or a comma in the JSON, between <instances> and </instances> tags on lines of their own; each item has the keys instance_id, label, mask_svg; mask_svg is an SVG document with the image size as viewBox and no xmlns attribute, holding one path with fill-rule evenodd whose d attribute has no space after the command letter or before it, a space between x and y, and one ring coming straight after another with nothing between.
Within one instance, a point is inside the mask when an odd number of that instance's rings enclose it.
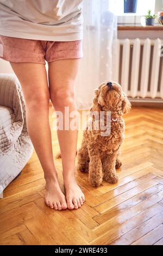
<instances>
[{"instance_id":1,"label":"person's bare foot on the left, farther from the dog","mask_svg":"<svg viewBox=\"0 0 163 256\"><path fill-rule=\"evenodd\" d=\"M46 178L45 203L52 209L65 210L67 203L57 177Z\"/></svg>"}]
</instances>

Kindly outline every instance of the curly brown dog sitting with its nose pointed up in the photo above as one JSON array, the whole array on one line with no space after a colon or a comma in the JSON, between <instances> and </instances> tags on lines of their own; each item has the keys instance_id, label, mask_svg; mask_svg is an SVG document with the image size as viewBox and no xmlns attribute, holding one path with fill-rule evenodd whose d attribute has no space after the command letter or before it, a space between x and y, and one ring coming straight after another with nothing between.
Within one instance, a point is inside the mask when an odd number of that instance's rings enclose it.
<instances>
[{"instance_id":1,"label":"curly brown dog sitting with its nose pointed up","mask_svg":"<svg viewBox=\"0 0 163 256\"><path fill-rule=\"evenodd\" d=\"M124 139L124 120L123 114L130 111L131 104L126 94L122 92L120 84L115 82L102 83L95 90L95 99L90 109L91 118L87 123L86 130L83 132L82 147L79 149L78 170L89 172L89 181L92 186L99 186L103 177L109 183L116 183L118 176L116 168L121 166L118 159L120 146ZM106 124L107 113L110 117L110 132L107 136L102 136L101 118L92 113L104 113L104 125ZM92 129L90 129L92 124ZM95 129L99 124L99 129Z\"/></svg>"}]
</instances>

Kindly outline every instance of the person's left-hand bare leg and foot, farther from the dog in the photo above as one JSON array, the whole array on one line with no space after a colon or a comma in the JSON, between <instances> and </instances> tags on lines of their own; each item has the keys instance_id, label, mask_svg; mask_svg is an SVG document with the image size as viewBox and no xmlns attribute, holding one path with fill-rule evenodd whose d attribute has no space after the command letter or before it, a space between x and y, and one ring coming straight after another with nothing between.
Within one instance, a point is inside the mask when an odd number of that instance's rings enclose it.
<instances>
[{"instance_id":1,"label":"person's left-hand bare leg and foot, farther from the dog","mask_svg":"<svg viewBox=\"0 0 163 256\"><path fill-rule=\"evenodd\" d=\"M22 86L26 101L29 136L45 174L45 202L52 209L66 209L66 199L61 192L53 161L51 129L48 116L49 88L45 65L36 63L10 64Z\"/></svg>"}]
</instances>

